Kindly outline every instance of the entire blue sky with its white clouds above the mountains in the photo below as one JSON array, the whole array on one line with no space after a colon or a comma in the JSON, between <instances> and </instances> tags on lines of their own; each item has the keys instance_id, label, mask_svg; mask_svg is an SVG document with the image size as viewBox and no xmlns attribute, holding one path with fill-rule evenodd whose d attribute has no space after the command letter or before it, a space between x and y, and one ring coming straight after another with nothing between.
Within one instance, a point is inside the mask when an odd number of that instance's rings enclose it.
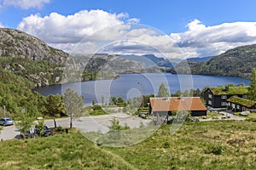
<instances>
[{"instance_id":1,"label":"entire blue sky with its white clouds above the mountains","mask_svg":"<svg viewBox=\"0 0 256 170\"><path fill-rule=\"evenodd\" d=\"M70 54L207 57L256 43L255 0L0 0L0 26Z\"/></svg>"}]
</instances>

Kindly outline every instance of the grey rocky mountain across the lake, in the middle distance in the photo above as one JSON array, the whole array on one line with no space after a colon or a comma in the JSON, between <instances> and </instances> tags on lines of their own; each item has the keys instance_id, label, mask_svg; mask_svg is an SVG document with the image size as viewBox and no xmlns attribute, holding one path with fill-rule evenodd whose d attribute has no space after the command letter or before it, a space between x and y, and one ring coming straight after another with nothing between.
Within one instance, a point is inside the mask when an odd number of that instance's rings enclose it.
<instances>
[{"instance_id":1,"label":"grey rocky mountain across the lake, in the middle distance","mask_svg":"<svg viewBox=\"0 0 256 170\"><path fill-rule=\"evenodd\" d=\"M169 71L165 67L152 65L152 62L137 55L91 54L74 56L85 71L103 71L114 74Z\"/></svg>"}]
</instances>

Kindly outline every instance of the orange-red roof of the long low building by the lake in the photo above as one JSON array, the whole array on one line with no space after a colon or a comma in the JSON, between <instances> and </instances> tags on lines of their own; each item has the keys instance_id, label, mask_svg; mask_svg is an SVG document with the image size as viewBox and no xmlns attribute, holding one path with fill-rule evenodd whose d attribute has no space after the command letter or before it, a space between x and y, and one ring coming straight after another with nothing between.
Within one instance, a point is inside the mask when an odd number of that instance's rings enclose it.
<instances>
[{"instance_id":1,"label":"orange-red roof of the long low building by the lake","mask_svg":"<svg viewBox=\"0 0 256 170\"><path fill-rule=\"evenodd\" d=\"M207 111L199 97L150 98L152 111Z\"/></svg>"}]
</instances>

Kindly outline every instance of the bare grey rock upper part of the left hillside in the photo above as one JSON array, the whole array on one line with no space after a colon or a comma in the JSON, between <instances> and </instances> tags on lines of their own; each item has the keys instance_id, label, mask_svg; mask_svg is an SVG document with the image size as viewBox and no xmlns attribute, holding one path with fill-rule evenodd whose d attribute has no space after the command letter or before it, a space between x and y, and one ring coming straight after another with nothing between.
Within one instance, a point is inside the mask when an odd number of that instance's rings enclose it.
<instances>
[{"instance_id":1,"label":"bare grey rock upper part of the left hillside","mask_svg":"<svg viewBox=\"0 0 256 170\"><path fill-rule=\"evenodd\" d=\"M67 60L68 54L49 47L37 37L23 31L0 28L0 56L47 60L50 63L62 64Z\"/></svg>"}]
</instances>

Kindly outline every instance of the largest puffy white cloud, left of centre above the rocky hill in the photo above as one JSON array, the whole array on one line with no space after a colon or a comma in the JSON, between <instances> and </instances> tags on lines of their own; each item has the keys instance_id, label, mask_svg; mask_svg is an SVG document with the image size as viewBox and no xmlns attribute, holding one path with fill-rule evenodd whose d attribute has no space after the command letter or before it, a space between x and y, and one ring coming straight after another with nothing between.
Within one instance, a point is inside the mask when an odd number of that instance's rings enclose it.
<instances>
[{"instance_id":1,"label":"largest puffy white cloud, left of centre above the rocky hill","mask_svg":"<svg viewBox=\"0 0 256 170\"><path fill-rule=\"evenodd\" d=\"M137 25L131 28L131 22L138 21L130 19L129 14L125 13L110 14L102 10L82 10L67 16L51 13L41 17L39 14L32 14L20 22L18 29L69 53L96 52L102 50L103 46L109 46L108 43L113 43L113 47L108 47L113 53L151 52L143 51L144 48L138 49L137 45L131 45L131 42L140 44L140 47L144 44L158 48L160 51L169 52L172 49L173 42L169 36L160 35L151 27Z\"/></svg>"}]
</instances>

